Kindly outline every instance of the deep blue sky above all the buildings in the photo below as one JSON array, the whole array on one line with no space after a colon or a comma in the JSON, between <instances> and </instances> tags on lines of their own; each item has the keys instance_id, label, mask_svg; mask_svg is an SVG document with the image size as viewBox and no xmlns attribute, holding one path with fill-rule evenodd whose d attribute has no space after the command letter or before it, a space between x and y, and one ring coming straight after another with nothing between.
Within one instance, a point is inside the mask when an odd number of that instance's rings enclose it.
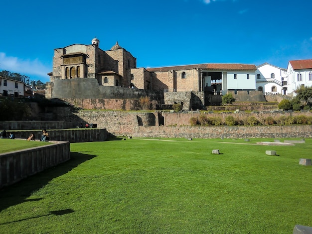
<instances>
[{"instance_id":1,"label":"deep blue sky above all the buildings","mask_svg":"<svg viewBox=\"0 0 312 234\"><path fill-rule=\"evenodd\" d=\"M53 49L119 45L137 67L312 58L312 0L9 0L1 2L0 71L49 81Z\"/></svg>"}]
</instances>

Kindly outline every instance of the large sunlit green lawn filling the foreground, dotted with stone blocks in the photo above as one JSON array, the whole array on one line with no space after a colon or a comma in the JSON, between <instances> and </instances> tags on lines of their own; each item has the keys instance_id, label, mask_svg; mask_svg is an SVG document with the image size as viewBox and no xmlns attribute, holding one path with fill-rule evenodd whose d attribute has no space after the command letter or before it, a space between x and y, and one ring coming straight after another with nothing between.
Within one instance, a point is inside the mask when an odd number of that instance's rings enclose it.
<instances>
[{"instance_id":1,"label":"large sunlit green lawn filling the foreground, dotted with stone blocks","mask_svg":"<svg viewBox=\"0 0 312 234\"><path fill-rule=\"evenodd\" d=\"M299 165L312 157L312 139L259 141L72 143L70 161L0 191L0 233L290 234L312 226L312 167Z\"/></svg>"}]
</instances>

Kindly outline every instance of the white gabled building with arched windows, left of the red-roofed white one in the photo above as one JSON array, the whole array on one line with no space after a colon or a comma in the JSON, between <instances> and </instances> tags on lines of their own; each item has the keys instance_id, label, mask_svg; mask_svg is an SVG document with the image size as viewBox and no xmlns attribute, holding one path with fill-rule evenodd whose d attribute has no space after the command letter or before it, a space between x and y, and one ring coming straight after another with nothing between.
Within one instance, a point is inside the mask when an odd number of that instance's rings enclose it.
<instances>
[{"instance_id":1,"label":"white gabled building with arched windows, left of the red-roofed white one","mask_svg":"<svg viewBox=\"0 0 312 234\"><path fill-rule=\"evenodd\" d=\"M287 70L269 63L257 66L256 89L264 94L287 94L287 88L283 87L283 81L287 77Z\"/></svg>"}]
</instances>

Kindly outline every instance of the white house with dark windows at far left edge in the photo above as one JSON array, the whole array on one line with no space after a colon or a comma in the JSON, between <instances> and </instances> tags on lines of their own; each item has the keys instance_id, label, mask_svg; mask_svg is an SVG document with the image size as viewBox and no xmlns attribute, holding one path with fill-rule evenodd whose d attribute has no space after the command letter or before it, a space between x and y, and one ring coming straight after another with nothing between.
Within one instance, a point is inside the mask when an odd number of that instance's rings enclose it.
<instances>
[{"instance_id":1,"label":"white house with dark windows at far left edge","mask_svg":"<svg viewBox=\"0 0 312 234\"><path fill-rule=\"evenodd\" d=\"M20 98L24 96L24 82L0 76L0 95Z\"/></svg>"}]
</instances>

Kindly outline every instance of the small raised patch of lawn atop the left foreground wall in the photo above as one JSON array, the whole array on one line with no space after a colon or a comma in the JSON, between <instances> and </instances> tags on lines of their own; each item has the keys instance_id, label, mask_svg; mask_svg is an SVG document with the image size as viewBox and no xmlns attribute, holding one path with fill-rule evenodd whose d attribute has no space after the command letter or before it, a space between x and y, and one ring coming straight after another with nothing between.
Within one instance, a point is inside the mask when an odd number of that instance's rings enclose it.
<instances>
[{"instance_id":1,"label":"small raised patch of lawn atop the left foreground wall","mask_svg":"<svg viewBox=\"0 0 312 234\"><path fill-rule=\"evenodd\" d=\"M46 141L28 141L21 139L0 139L0 153L6 153L15 150L21 150L26 148L38 147L51 144Z\"/></svg>"}]
</instances>

